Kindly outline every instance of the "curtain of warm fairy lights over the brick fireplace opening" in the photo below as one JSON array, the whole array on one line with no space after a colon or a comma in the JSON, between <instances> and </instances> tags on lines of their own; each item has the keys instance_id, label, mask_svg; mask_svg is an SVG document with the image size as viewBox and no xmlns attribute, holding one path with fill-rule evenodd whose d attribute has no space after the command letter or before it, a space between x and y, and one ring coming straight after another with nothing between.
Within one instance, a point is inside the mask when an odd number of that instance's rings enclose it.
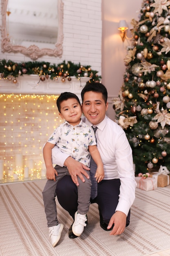
<instances>
[{"instance_id":1,"label":"curtain of warm fairy lights over the brick fireplace opening","mask_svg":"<svg viewBox=\"0 0 170 256\"><path fill-rule=\"evenodd\" d=\"M0 107L4 110L0 122L3 182L14 179L8 176L11 168L19 180L24 180L23 171L29 167L30 159L33 160L33 170L29 179L41 178L41 169L44 166L43 145L53 130L63 122L54 104L58 97L59 95L45 94L0 94ZM22 171L15 170L17 154L22 155Z\"/></svg>"}]
</instances>

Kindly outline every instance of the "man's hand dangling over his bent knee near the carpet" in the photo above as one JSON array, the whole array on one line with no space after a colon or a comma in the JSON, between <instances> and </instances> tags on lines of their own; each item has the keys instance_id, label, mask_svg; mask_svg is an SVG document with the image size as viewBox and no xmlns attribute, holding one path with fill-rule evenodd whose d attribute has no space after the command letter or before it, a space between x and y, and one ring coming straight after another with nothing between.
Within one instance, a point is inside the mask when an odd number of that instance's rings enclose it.
<instances>
[{"instance_id":1,"label":"man's hand dangling over his bent knee near the carpet","mask_svg":"<svg viewBox=\"0 0 170 256\"><path fill-rule=\"evenodd\" d=\"M110 232L110 235L115 236L122 234L126 227L126 214L122 211L116 211L108 223L108 229L110 229L113 224L114 227Z\"/></svg>"}]
</instances>

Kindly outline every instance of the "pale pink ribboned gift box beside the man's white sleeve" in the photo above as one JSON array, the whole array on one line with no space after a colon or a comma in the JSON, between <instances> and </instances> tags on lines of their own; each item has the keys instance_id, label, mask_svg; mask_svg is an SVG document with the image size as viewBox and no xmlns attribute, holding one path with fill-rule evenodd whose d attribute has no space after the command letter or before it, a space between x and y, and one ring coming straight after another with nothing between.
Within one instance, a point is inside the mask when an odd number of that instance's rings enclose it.
<instances>
[{"instance_id":1,"label":"pale pink ribboned gift box beside the man's white sleeve","mask_svg":"<svg viewBox=\"0 0 170 256\"><path fill-rule=\"evenodd\" d=\"M150 191L158 188L156 177L153 177L153 178L135 177L135 180L136 180L138 189Z\"/></svg>"}]
</instances>

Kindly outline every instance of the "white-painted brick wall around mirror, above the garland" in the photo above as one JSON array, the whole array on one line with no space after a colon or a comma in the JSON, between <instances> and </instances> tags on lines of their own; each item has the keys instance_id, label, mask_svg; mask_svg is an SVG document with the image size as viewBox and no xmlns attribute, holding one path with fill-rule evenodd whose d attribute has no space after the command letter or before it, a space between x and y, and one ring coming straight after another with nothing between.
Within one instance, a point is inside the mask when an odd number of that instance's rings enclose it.
<instances>
[{"instance_id":1,"label":"white-painted brick wall around mirror, above the garland","mask_svg":"<svg viewBox=\"0 0 170 256\"><path fill-rule=\"evenodd\" d=\"M102 47L102 0L63 0L64 3L64 43L62 58L44 56L37 61L60 63L64 60L81 65L91 65L101 75ZM1 16L0 16L1 22ZM30 58L17 53L0 52L0 59L22 62Z\"/></svg>"}]
</instances>

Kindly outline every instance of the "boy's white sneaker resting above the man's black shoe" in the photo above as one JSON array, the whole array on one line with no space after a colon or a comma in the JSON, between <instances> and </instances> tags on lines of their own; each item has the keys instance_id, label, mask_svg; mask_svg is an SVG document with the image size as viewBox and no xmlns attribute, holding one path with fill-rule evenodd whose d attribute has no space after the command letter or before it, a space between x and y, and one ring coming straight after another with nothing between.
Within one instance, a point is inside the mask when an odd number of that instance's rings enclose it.
<instances>
[{"instance_id":1,"label":"boy's white sneaker resting above the man's black shoe","mask_svg":"<svg viewBox=\"0 0 170 256\"><path fill-rule=\"evenodd\" d=\"M75 213L75 220L72 226L72 231L76 236L80 236L83 231L84 227L86 227L87 217L86 214L79 214L77 211Z\"/></svg>"}]
</instances>

